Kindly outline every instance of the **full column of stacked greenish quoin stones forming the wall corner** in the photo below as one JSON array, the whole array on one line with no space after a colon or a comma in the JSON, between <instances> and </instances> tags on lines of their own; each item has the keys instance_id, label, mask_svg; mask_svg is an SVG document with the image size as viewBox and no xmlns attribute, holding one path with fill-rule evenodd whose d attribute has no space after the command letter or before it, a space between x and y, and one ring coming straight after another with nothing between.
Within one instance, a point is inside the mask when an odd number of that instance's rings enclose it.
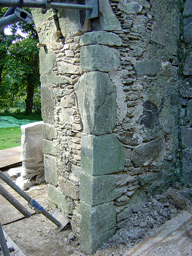
<instances>
[{"instance_id":1,"label":"full column of stacked greenish quoin stones forming the wall corner","mask_svg":"<svg viewBox=\"0 0 192 256\"><path fill-rule=\"evenodd\" d=\"M115 232L116 211L113 201L122 195L118 186L119 177L114 174L124 168L124 148L111 134L115 126L116 94L115 86L108 76L109 71L119 67L120 54L112 46L119 46L121 40L114 33L95 31L82 36L80 44L81 67L86 72L76 85L84 126L81 142L80 247L86 253L94 253ZM107 104L102 98L108 98ZM108 106L111 108L108 109ZM99 211L103 208L107 209L105 219L99 220ZM96 217L94 213L97 212Z\"/></svg>"}]
</instances>

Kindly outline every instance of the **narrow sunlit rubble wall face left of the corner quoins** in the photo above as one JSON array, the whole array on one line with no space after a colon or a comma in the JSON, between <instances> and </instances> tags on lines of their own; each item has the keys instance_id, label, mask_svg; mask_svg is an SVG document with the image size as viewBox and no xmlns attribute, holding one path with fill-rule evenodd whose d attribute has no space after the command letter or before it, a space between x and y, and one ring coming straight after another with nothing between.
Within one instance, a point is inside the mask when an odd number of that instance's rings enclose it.
<instances>
[{"instance_id":1,"label":"narrow sunlit rubble wall face left of the corner quoins","mask_svg":"<svg viewBox=\"0 0 192 256\"><path fill-rule=\"evenodd\" d=\"M81 75L79 11L32 10L40 46L45 179L52 207L80 233L82 122L74 86Z\"/></svg>"}]
</instances>

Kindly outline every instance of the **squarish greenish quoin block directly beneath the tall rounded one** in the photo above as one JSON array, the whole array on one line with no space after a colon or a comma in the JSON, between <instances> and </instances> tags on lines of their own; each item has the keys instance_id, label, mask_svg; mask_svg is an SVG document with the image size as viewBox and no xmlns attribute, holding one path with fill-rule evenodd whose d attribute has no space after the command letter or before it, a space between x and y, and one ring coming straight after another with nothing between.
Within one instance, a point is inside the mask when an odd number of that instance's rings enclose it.
<instances>
[{"instance_id":1,"label":"squarish greenish quoin block directly beneath the tall rounded one","mask_svg":"<svg viewBox=\"0 0 192 256\"><path fill-rule=\"evenodd\" d=\"M81 168L90 175L105 175L124 169L125 150L113 134L82 134Z\"/></svg>"}]
</instances>

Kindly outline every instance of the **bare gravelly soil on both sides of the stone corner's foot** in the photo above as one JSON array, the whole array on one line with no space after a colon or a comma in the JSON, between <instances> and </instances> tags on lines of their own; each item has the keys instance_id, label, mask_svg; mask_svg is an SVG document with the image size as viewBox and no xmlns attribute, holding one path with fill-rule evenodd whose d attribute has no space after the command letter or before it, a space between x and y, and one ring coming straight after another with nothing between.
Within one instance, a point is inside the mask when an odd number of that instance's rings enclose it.
<instances>
[{"instance_id":1,"label":"bare gravelly soil on both sides of the stone corner's foot","mask_svg":"<svg viewBox=\"0 0 192 256\"><path fill-rule=\"evenodd\" d=\"M3 184L3 181L0 180L0 183ZM35 189L27 191L27 193L46 210L51 212L51 208L48 205L46 184L38 185ZM186 197L183 197L183 195L190 199L192 196L191 189L185 188L180 184L175 184L174 187L168 189L163 195L151 197L143 205L143 209L140 212L134 213L127 220L126 225L122 229L118 229L116 234L104 243L93 255L124 255L133 246L157 230L162 224L176 216L177 213L180 213L182 209L192 213L191 202ZM24 199L21 199L16 194L14 196L24 207L30 209ZM85 253L81 253L78 238L73 236L70 227L62 232L58 232L57 227L42 214L33 214L30 218L23 218L22 214L12 207L2 196L0 196L0 205L0 220L3 230L5 230L12 241L20 247L26 256L86 255ZM10 255L14 256L14 252ZM172 254L160 253L158 255ZM189 255L191 255L191 251Z\"/></svg>"}]
</instances>

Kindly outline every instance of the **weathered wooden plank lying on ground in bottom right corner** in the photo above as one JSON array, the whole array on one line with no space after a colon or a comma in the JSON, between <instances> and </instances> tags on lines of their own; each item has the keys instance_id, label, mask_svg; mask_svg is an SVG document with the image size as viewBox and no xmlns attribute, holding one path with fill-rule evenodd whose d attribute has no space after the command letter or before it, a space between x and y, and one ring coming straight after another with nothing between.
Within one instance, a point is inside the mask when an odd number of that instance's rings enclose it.
<instances>
[{"instance_id":1,"label":"weathered wooden plank lying on ground in bottom right corner","mask_svg":"<svg viewBox=\"0 0 192 256\"><path fill-rule=\"evenodd\" d=\"M123 256L191 255L191 236L192 215L183 210Z\"/></svg>"}]
</instances>

